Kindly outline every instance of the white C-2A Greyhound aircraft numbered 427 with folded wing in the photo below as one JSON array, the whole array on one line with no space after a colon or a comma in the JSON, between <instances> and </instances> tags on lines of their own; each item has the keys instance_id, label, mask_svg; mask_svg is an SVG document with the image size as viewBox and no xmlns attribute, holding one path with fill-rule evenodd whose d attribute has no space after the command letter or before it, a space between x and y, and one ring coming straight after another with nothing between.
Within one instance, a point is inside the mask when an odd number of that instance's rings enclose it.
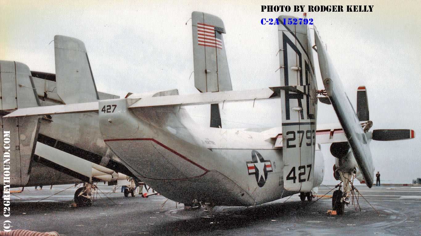
<instances>
[{"instance_id":1,"label":"white C-2A Greyhound aircraft numbered 427 with folded wing","mask_svg":"<svg viewBox=\"0 0 421 236\"><path fill-rule=\"evenodd\" d=\"M292 16L279 16L294 18ZM282 22L279 20L279 22ZM176 202L250 206L301 193L311 200L322 183L324 161L318 144L332 143L335 173L343 183L334 210L341 214L353 174L368 187L374 166L369 142L413 138L412 130L375 130L368 117L365 87L358 89L357 114L342 88L317 30L278 26L280 87L232 91L220 18L192 13L195 87L72 105L18 109L7 116L98 112L105 143L142 181ZM314 44L315 42L315 44ZM326 90L317 90L317 52ZM317 125L320 101L332 104L340 124ZM219 103L281 99L282 127L221 128ZM210 127L197 125L184 106L211 105ZM363 128L364 127L364 128Z\"/></svg>"}]
</instances>

